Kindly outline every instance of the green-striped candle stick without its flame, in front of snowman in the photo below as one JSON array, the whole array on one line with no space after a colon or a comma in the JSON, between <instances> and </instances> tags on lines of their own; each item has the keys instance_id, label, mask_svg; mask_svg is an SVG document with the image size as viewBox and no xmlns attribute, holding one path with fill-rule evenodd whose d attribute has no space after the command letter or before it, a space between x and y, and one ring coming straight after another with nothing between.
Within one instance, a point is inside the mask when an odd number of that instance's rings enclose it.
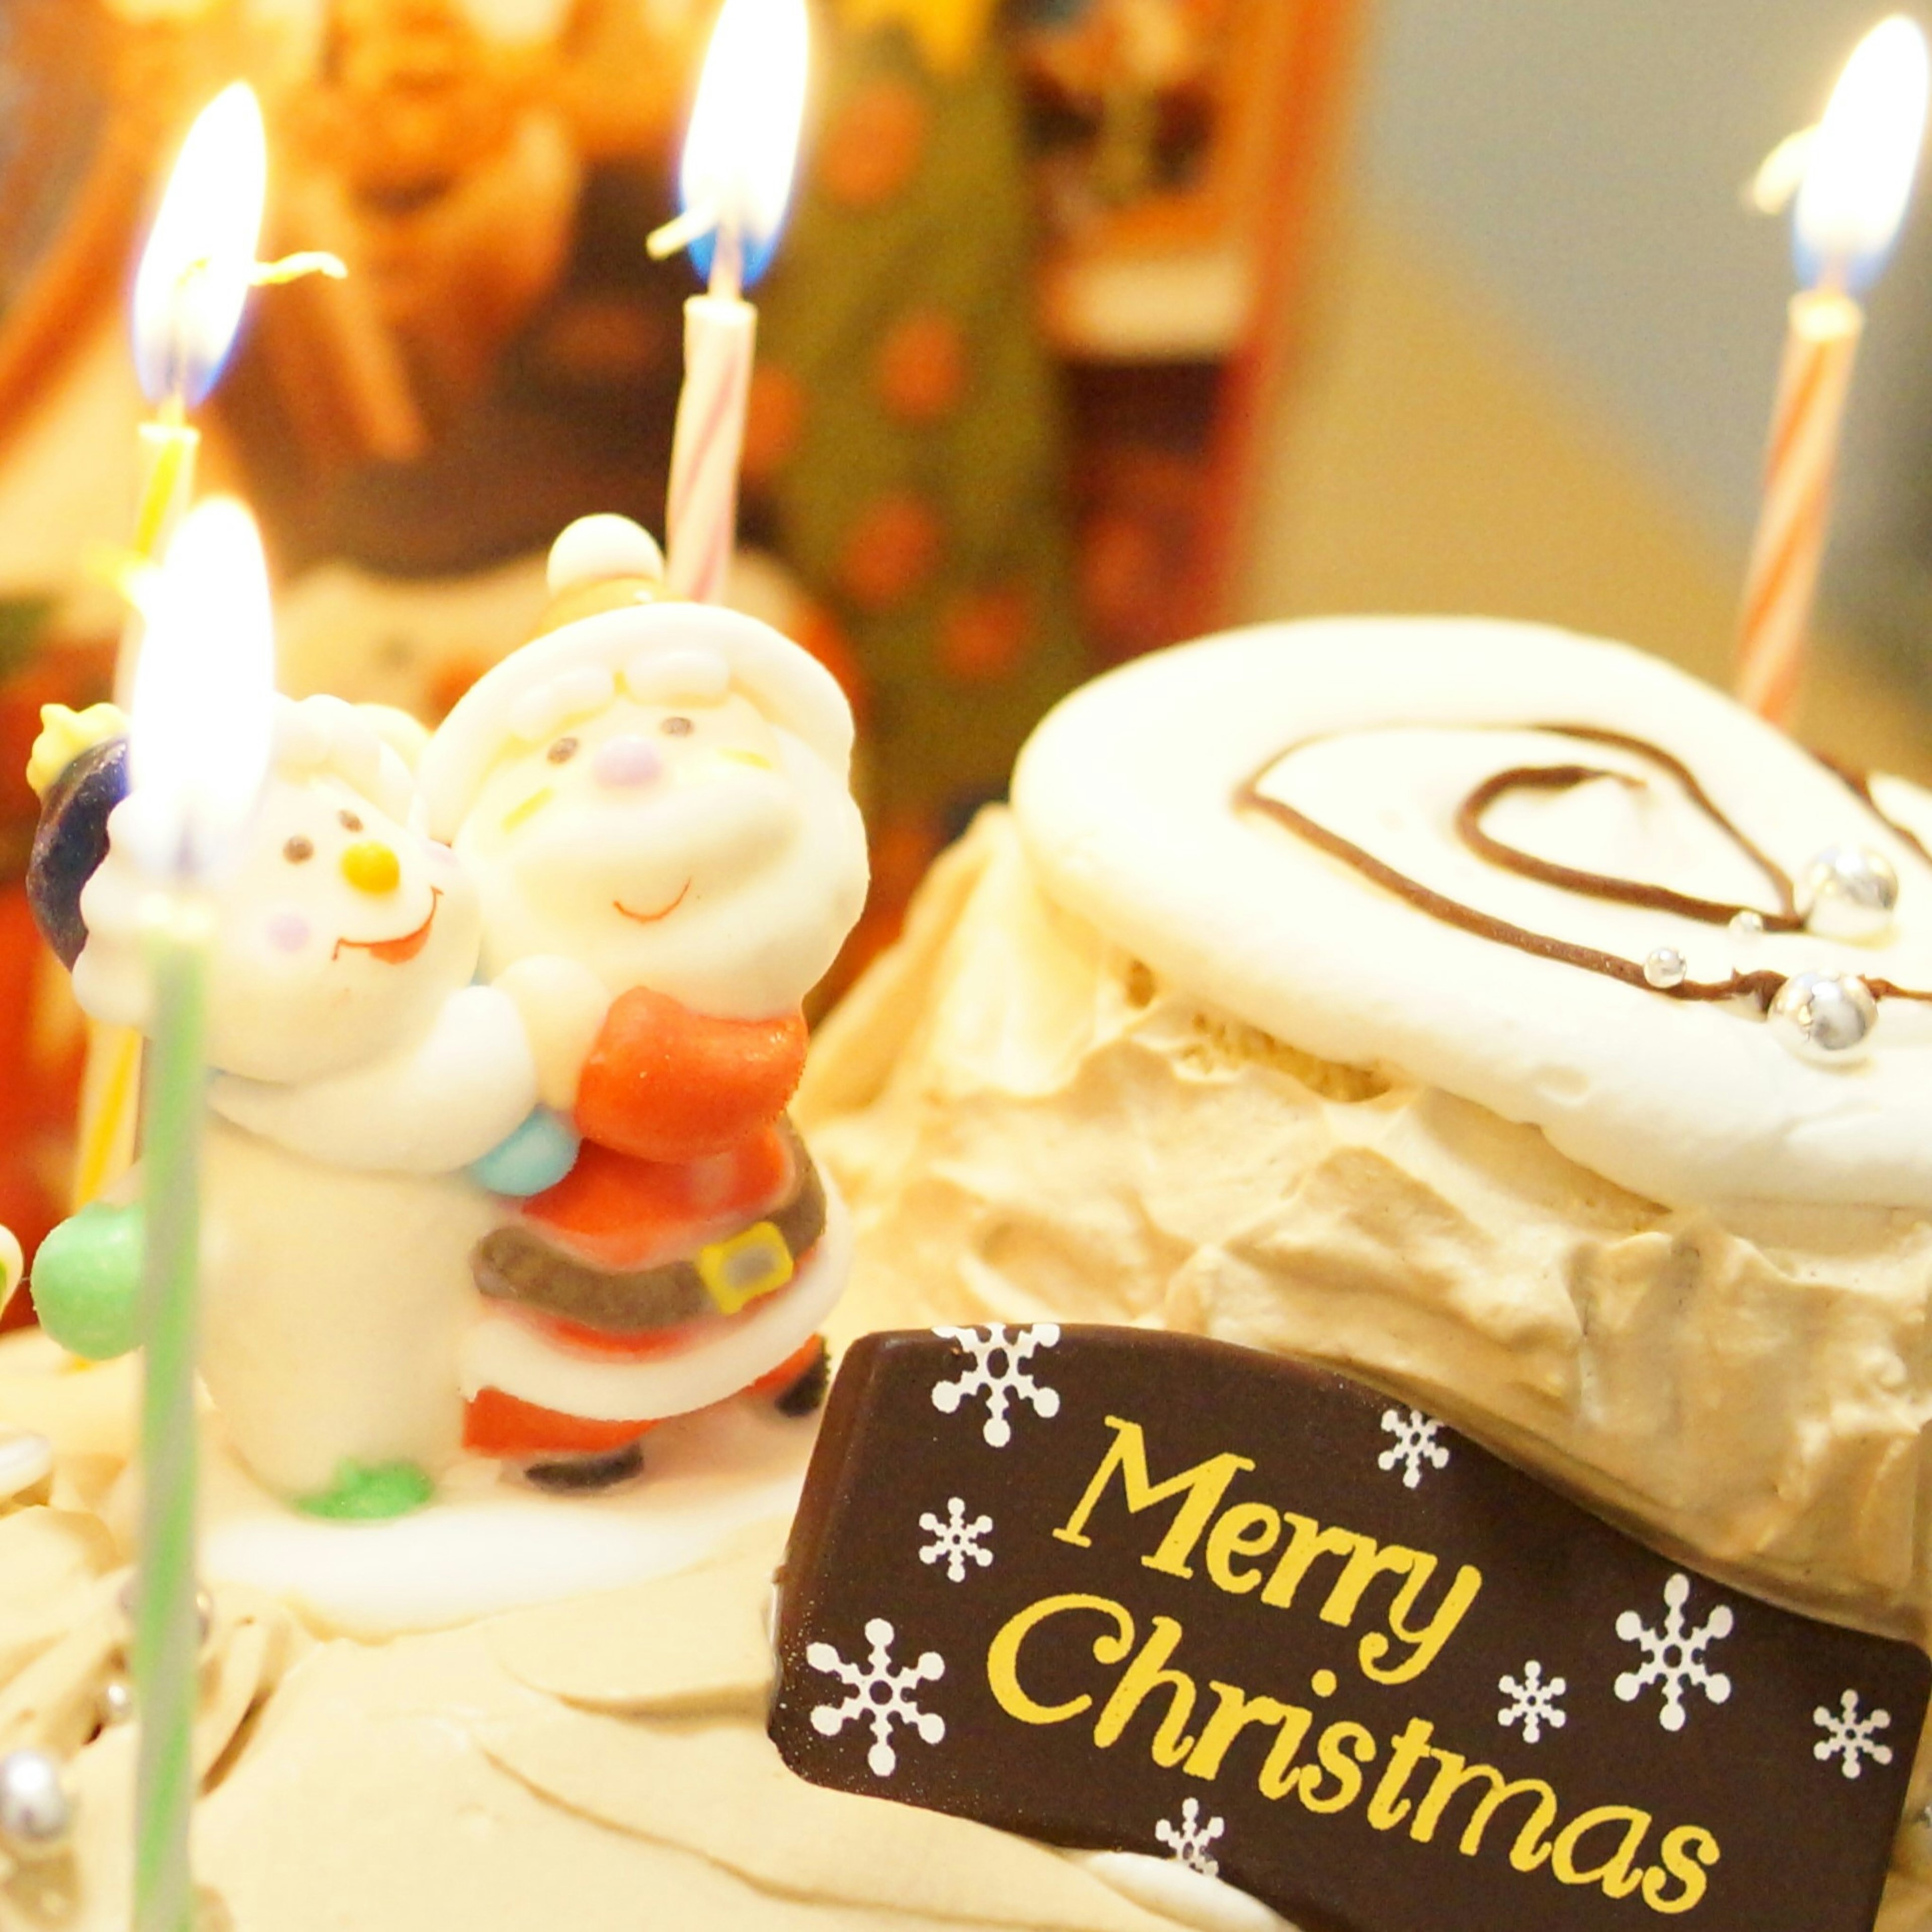
<instances>
[{"instance_id":1,"label":"green-striped candle stick without its flame, in front of snowman","mask_svg":"<svg viewBox=\"0 0 1932 1932\"><path fill-rule=\"evenodd\" d=\"M133 1687L135 1932L189 1932L187 1820L201 1633L195 1613L195 1306L209 908L193 887L156 896L149 935L153 1049L143 1111L141 1530Z\"/></svg>"}]
</instances>

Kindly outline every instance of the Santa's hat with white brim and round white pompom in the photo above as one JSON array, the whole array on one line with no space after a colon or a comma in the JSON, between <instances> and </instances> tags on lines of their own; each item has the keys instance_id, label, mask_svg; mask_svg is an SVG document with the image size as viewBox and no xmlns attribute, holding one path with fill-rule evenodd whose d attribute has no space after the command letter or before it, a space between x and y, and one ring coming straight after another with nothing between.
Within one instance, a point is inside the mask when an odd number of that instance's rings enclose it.
<instances>
[{"instance_id":1,"label":"Santa's hat with white brim and round white pompom","mask_svg":"<svg viewBox=\"0 0 1932 1932\"><path fill-rule=\"evenodd\" d=\"M769 624L663 597L665 560L624 516L585 516L551 547L543 630L487 670L437 726L417 784L435 838L452 838L506 746L541 744L622 688L649 703L750 697L846 777L852 707L838 680Z\"/></svg>"}]
</instances>

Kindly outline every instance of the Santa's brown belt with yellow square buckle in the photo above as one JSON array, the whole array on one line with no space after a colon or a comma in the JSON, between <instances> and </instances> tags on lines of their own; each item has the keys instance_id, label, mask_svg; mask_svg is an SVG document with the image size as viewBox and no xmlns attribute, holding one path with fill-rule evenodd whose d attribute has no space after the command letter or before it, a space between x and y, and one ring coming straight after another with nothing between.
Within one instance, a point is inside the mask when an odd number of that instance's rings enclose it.
<instances>
[{"instance_id":1,"label":"Santa's brown belt with yellow square buckle","mask_svg":"<svg viewBox=\"0 0 1932 1932\"><path fill-rule=\"evenodd\" d=\"M493 1229L471 1250L477 1291L603 1335L643 1335L699 1316L738 1314L782 1289L825 1233L825 1184L788 1122L784 1134L796 1177L790 1196L696 1256L657 1267L597 1267L533 1227L510 1225Z\"/></svg>"}]
</instances>

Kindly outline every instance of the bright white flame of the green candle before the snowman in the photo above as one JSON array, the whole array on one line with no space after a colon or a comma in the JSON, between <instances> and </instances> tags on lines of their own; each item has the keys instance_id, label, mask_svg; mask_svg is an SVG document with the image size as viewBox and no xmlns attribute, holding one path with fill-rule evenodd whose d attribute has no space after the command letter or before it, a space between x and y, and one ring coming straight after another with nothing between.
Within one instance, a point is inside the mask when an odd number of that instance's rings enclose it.
<instances>
[{"instance_id":1,"label":"bright white flame of the green candle before the snowman","mask_svg":"<svg viewBox=\"0 0 1932 1932\"><path fill-rule=\"evenodd\" d=\"M211 497L182 522L147 599L116 838L164 879L207 879L247 831L274 724L274 628L255 520Z\"/></svg>"}]
</instances>

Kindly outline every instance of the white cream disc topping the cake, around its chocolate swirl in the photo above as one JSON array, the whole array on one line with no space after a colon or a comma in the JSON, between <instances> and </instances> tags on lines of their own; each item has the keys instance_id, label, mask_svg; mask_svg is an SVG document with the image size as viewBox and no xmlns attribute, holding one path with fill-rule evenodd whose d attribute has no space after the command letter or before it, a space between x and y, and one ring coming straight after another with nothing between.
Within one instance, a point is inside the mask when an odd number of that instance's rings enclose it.
<instances>
[{"instance_id":1,"label":"white cream disc topping the cake, around its chocolate swirl","mask_svg":"<svg viewBox=\"0 0 1932 1932\"><path fill-rule=\"evenodd\" d=\"M1517 788L1486 831L1546 860L1774 908L1764 873L1646 740L1791 877L1833 844L1899 875L1880 943L1750 935L1528 879L1470 848L1468 794L1511 767L1619 773ZM1857 972L1932 991L1932 864L1857 790L1727 697L1625 645L1476 618L1329 618L1163 651L1061 703L1014 806L1047 891L1209 1007L1540 1126L1667 1206L1932 1208L1932 1005L1884 999L1872 1051L1818 1066L1743 1003L1694 1005L1461 929L1236 796L1258 788L1432 893L1690 980ZM1932 844L1932 796L1874 782Z\"/></svg>"}]
</instances>

